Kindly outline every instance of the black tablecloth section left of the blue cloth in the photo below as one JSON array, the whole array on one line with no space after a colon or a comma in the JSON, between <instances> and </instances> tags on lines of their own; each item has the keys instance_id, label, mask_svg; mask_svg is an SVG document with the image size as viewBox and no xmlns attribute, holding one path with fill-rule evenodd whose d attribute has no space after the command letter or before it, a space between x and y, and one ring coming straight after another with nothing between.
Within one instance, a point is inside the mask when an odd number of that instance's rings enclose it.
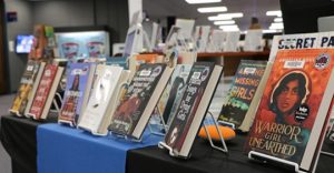
<instances>
[{"instance_id":1,"label":"black tablecloth section left of the blue cloth","mask_svg":"<svg viewBox=\"0 0 334 173\"><path fill-rule=\"evenodd\" d=\"M40 124L50 122L56 122L55 116L41 122L13 115L1 116L0 140L11 157L13 173L37 172L36 130Z\"/></svg>"}]
</instances>

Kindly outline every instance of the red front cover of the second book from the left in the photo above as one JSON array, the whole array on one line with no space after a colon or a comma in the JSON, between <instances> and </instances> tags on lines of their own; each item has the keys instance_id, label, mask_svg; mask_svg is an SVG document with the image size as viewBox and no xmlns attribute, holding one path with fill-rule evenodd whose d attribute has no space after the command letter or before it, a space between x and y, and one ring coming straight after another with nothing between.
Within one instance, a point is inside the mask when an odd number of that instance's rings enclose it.
<instances>
[{"instance_id":1,"label":"red front cover of the second book from the left","mask_svg":"<svg viewBox=\"0 0 334 173\"><path fill-rule=\"evenodd\" d=\"M52 88L52 83L57 74L57 70L58 70L58 65L55 64L48 64L45 68L43 74L41 77L41 80L36 91L36 95L32 101L32 105L29 111L29 114L33 114L36 119L40 118L40 115L43 112L43 108L48 96L51 96L49 95L49 92Z\"/></svg>"}]
</instances>

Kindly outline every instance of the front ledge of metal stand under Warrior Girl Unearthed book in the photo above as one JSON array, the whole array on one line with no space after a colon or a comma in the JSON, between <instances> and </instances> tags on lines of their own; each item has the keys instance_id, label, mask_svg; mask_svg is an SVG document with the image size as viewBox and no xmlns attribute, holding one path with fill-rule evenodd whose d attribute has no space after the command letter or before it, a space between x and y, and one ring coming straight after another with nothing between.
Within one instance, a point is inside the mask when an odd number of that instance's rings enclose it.
<instances>
[{"instance_id":1,"label":"front ledge of metal stand under Warrior Girl Unearthed book","mask_svg":"<svg viewBox=\"0 0 334 173\"><path fill-rule=\"evenodd\" d=\"M264 163L267 163L267 162L278 162L278 163L282 163L284 165L288 165L288 166L294 167L294 171L296 173L307 173L307 172L301 170L299 169L299 164L297 164L295 162L291 162L291 161L287 161L287 160L283 160L283 159L275 157L275 156L272 156L272 155L267 155L267 154L264 154L264 153L259 153L259 152L256 152L256 151L250 151L248 153L248 159L249 160L262 161Z\"/></svg>"}]
</instances>

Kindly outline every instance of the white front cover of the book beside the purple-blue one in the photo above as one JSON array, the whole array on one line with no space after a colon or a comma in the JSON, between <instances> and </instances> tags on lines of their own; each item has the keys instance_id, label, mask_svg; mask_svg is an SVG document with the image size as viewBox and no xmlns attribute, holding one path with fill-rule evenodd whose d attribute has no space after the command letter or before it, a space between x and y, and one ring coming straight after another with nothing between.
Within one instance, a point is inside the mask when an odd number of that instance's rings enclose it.
<instances>
[{"instance_id":1,"label":"white front cover of the book beside the purple-blue one","mask_svg":"<svg viewBox=\"0 0 334 173\"><path fill-rule=\"evenodd\" d=\"M79 122L79 128L97 132L101 121L107 113L111 98L116 96L118 80L121 77L122 68L105 65L101 74L95 82L95 89L88 101L86 111Z\"/></svg>"}]
</instances>

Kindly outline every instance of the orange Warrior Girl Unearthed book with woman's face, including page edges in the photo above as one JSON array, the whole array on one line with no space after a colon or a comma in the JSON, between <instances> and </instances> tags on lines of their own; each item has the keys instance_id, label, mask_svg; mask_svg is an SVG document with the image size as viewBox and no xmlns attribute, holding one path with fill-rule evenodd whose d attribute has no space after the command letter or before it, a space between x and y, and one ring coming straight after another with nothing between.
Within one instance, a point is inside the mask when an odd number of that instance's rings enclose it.
<instances>
[{"instance_id":1,"label":"orange Warrior Girl Unearthed book with woman's face, including page edges","mask_svg":"<svg viewBox=\"0 0 334 173\"><path fill-rule=\"evenodd\" d=\"M256 151L311 171L318 157L334 93L334 50L277 52L246 142Z\"/></svg>"}]
</instances>

